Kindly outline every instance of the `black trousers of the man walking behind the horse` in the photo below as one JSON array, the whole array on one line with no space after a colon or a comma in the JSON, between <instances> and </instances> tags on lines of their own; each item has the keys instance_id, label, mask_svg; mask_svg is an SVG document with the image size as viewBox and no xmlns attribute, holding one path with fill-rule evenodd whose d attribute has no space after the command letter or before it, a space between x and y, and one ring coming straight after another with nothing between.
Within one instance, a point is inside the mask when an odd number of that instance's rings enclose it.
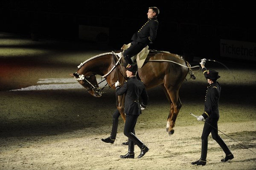
<instances>
[{"instance_id":1,"label":"black trousers of the man walking behind the horse","mask_svg":"<svg viewBox=\"0 0 256 170\"><path fill-rule=\"evenodd\" d=\"M231 154L229 148L218 135L218 119L209 119L207 118L204 123L204 129L201 136L202 148L201 148L201 159L206 160L207 149L208 149L208 136L212 134L212 138L221 146L222 150L226 155Z\"/></svg>"}]
</instances>

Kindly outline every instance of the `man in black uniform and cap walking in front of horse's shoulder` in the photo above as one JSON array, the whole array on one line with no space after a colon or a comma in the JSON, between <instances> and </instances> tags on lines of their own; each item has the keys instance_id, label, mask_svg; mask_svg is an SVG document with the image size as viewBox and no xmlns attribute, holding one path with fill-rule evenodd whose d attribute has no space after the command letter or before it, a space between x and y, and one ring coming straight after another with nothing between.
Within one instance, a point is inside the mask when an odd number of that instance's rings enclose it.
<instances>
[{"instance_id":1,"label":"man in black uniform and cap walking in front of horse's shoulder","mask_svg":"<svg viewBox=\"0 0 256 170\"><path fill-rule=\"evenodd\" d=\"M138 66L134 64L128 64L126 67L126 75L129 78L128 81L125 81L124 84L120 87L119 82L117 81L116 94L123 95L125 94L125 128L124 134L128 137L128 153L126 155L121 155L121 158L134 158L134 143L140 147L140 155L138 158L141 158L148 152L148 147L143 144L140 139L137 138L134 134L134 127L137 123L137 118L141 114L141 107L145 108L148 104L148 93L146 92L145 86L142 81L138 80L136 77ZM139 98L142 99L142 104L139 103Z\"/></svg>"}]
</instances>

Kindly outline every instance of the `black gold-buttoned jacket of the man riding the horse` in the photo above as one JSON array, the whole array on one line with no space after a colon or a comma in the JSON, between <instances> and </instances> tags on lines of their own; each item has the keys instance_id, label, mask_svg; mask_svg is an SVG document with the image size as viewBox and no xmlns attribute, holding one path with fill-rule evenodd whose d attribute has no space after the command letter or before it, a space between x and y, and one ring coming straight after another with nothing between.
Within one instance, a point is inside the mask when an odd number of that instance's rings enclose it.
<instances>
[{"instance_id":1,"label":"black gold-buttoned jacket of the man riding the horse","mask_svg":"<svg viewBox=\"0 0 256 170\"><path fill-rule=\"evenodd\" d=\"M134 33L134 35L131 37L131 40L143 44L148 44L149 42L154 41L157 37L157 28L157 18L151 18L140 28L138 32Z\"/></svg>"}]
</instances>

